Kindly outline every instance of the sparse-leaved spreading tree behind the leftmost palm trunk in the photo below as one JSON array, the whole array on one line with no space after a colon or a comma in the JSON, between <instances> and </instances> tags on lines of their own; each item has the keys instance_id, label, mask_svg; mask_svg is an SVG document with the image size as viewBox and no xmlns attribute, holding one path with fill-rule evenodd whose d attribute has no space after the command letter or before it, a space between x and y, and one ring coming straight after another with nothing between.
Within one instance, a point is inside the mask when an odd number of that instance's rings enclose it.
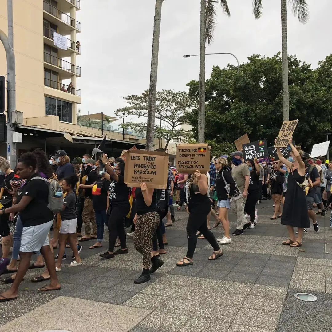
<instances>
[{"instance_id":1,"label":"sparse-leaved spreading tree behind the leftmost palm trunk","mask_svg":"<svg viewBox=\"0 0 332 332\"><path fill-rule=\"evenodd\" d=\"M119 117L135 116L146 118L148 116L149 91L141 95L124 97L128 106L118 109L115 114ZM159 126L154 127L154 137L166 140L165 151L169 142L175 137L189 138L191 132L181 129L181 125L188 124L185 117L190 113L196 103L186 92L174 92L162 90L156 94L155 118L159 120ZM127 122L122 125L125 129L133 129L136 132L146 132L146 122Z\"/></svg>"}]
</instances>

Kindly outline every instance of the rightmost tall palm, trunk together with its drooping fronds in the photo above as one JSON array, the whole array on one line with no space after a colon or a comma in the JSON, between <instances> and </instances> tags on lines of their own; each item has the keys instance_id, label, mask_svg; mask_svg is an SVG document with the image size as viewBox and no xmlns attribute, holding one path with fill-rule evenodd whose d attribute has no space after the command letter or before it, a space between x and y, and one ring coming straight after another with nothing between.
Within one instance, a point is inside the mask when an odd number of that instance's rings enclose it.
<instances>
[{"instance_id":1,"label":"rightmost tall palm, trunk together with its drooping fronds","mask_svg":"<svg viewBox=\"0 0 332 332\"><path fill-rule=\"evenodd\" d=\"M293 14L305 24L309 20L306 0L288 0ZM262 15L262 0L253 0L253 14L256 19ZM287 44L287 0L281 0L281 43L282 43L282 71L283 71L283 120L290 119L289 92L288 92L288 44Z\"/></svg>"}]
</instances>

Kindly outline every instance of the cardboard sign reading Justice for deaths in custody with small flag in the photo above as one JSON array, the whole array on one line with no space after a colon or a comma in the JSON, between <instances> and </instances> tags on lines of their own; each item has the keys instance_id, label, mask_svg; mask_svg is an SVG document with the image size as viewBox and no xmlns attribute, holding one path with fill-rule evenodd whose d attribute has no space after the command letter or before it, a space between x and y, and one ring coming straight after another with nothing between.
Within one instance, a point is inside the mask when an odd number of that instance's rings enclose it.
<instances>
[{"instance_id":1,"label":"cardboard sign reading Justice for deaths in custody with small flag","mask_svg":"<svg viewBox=\"0 0 332 332\"><path fill-rule=\"evenodd\" d=\"M176 167L179 173L207 174L210 170L210 149L207 143L179 144L176 148Z\"/></svg>"}]
</instances>

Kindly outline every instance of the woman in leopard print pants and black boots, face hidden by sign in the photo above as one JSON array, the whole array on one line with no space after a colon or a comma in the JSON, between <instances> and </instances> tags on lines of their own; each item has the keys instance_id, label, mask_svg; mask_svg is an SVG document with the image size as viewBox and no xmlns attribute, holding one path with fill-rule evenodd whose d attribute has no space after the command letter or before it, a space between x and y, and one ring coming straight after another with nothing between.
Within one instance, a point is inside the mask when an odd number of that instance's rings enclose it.
<instances>
[{"instance_id":1,"label":"woman in leopard print pants and black boots, face hidden by sign","mask_svg":"<svg viewBox=\"0 0 332 332\"><path fill-rule=\"evenodd\" d=\"M152 237L159 225L155 191L153 188L147 188L145 182L142 182L141 187L135 190L135 197L134 246L143 256L143 271L134 283L142 284L151 279L149 272L151 261L153 272L161 267L164 262L152 254Z\"/></svg>"}]
</instances>

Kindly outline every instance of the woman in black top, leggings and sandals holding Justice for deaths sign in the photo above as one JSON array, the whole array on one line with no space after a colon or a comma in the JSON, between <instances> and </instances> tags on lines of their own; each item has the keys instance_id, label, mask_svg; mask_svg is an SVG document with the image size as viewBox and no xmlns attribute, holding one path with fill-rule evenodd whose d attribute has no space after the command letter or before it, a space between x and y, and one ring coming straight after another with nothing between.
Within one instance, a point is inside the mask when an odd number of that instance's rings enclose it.
<instances>
[{"instance_id":1,"label":"woman in black top, leggings and sandals holding Justice for deaths sign","mask_svg":"<svg viewBox=\"0 0 332 332\"><path fill-rule=\"evenodd\" d=\"M208 190L207 176L196 170L187 182L187 212L189 213L187 222L187 255L176 263L177 266L194 264L193 256L197 244L196 232L198 230L213 247L214 251L208 259L215 260L223 255L213 233L207 228L207 215L211 210L211 203L207 196Z\"/></svg>"}]
</instances>

